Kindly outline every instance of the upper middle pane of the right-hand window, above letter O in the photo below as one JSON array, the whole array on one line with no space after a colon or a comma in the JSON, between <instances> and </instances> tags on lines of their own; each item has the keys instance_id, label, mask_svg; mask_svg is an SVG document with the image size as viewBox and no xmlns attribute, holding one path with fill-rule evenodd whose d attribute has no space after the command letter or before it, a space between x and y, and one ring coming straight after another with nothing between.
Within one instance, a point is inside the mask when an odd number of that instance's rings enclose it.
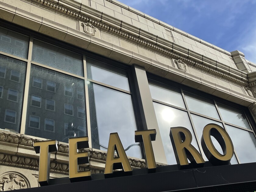
<instances>
[{"instance_id":1,"label":"upper middle pane of the right-hand window, above letter O","mask_svg":"<svg viewBox=\"0 0 256 192\"><path fill-rule=\"evenodd\" d=\"M200 97L187 91L184 91L184 95L190 111L219 119L215 104L211 99Z\"/></svg>"}]
</instances>

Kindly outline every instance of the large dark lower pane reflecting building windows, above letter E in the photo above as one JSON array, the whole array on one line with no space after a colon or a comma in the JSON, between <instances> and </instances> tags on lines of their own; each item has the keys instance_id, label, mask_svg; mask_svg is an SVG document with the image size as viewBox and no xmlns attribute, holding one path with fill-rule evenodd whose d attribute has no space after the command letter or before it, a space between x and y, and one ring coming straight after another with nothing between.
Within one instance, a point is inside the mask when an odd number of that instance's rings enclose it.
<instances>
[{"instance_id":1,"label":"large dark lower pane reflecting building windows, above letter E","mask_svg":"<svg viewBox=\"0 0 256 192\"><path fill-rule=\"evenodd\" d=\"M74 137L74 135L77 137L77 127L81 126L83 127L81 131L86 135L86 118L81 119L76 115L78 113L78 106L85 108L85 101L64 95L65 87L71 87L74 91L77 89L85 90L84 80L56 71L49 72L49 69L34 65L31 65L30 75L34 78L30 78L28 99L34 102L33 105L38 104L37 106L39 106L41 101L41 106L43 107L37 108L30 105L30 103L28 104L25 134L47 139L56 139L68 143L70 137ZM32 86L35 85L35 82L38 82L42 89ZM51 85L52 83L55 83L55 92L46 90L47 85ZM37 122L40 127L39 129L30 128L33 122L29 122L29 116L40 117L41 121ZM52 122L54 122L56 126L53 126ZM65 131L65 123L73 123L73 126L69 128L67 126L67 130ZM49 131L53 133L49 134Z\"/></svg>"}]
</instances>

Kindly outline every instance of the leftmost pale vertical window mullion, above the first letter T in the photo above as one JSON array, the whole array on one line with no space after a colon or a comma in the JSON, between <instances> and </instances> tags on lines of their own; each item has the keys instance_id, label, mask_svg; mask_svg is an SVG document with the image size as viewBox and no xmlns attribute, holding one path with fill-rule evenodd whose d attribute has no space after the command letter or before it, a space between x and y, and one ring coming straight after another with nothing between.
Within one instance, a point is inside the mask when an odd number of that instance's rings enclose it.
<instances>
[{"instance_id":1,"label":"leftmost pale vertical window mullion, above the first letter T","mask_svg":"<svg viewBox=\"0 0 256 192\"><path fill-rule=\"evenodd\" d=\"M26 80L25 80L24 97L23 97L23 109L22 109L21 125L20 125L20 133L21 134L25 134L32 50L33 50L33 36L30 36L29 48L28 48L28 58L27 58Z\"/></svg>"}]
</instances>

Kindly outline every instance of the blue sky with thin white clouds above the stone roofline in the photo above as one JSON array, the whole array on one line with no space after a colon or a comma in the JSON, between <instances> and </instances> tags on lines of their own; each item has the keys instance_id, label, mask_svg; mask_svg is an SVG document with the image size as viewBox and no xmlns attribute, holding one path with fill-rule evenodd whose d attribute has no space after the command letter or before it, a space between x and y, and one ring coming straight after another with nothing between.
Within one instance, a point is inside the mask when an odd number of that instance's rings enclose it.
<instances>
[{"instance_id":1,"label":"blue sky with thin white clouds above the stone roofline","mask_svg":"<svg viewBox=\"0 0 256 192\"><path fill-rule=\"evenodd\" d=\"M256 0L119 0L256 63Z\"/></svg>"}]
</instances>

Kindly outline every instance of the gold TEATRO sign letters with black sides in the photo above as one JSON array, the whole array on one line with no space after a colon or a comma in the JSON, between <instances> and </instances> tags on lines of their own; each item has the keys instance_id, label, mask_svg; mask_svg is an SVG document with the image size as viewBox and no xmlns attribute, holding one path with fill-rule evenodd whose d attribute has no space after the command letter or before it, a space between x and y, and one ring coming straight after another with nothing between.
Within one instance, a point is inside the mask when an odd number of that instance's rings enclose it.
<instances>
[{"instance_id":1,"label":"gold TEATRO sign letters with black sides","mask_svg":"<svg viewBox=\"0 0 256 192\"><path fill-rule=\"evenodd\" d=\"M212 143L211 136L219 142L223 154L220 154ZM156 169L155 156L151 141L156 137L156 130L135 131L135 142L144 144L145 161L148 172ZM192 134L185 127L171 127L170 139L177 164L188 165L188 159L195 166L203 165L204 159L197 149L191 144ZM208 124L204 127L201 137L201 145L205 156L212 165L228 165L233 154L234 147L228 133L217 124ZM89 163L88 152L78 152L78 149L89 148L88 137L69 138L69 179L75 182L81 179L90 179L91 171L78 171L78 165ZM34 143L36 153L40 153L38 182L41 186L48 185L50 175L50 153L57 151L57 141L39 141ZM116 154L115 154L116 152ZM124 151L118 133L110 133L108 152L105 164L105 177L112 176L113 170L122 169L125 174L133 171Z\"/></svg>"}]
</instances>

